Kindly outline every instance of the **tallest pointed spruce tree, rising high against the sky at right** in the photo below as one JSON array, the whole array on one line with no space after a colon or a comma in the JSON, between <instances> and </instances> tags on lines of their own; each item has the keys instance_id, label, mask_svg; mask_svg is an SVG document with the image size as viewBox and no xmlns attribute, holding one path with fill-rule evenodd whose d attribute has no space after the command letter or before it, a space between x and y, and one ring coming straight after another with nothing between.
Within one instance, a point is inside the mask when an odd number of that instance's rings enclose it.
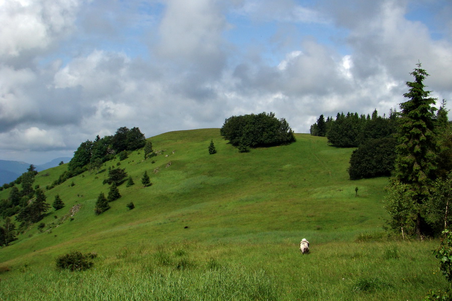
<instances>
[{"instance_id":1,"label":"tallest pointed spruce tree, rising high against the sky at right","mask_svg":"<svg viewBox=\"0 0 452 301\"><path fill-rule=\"evenodd\" d=\"M397 132L395 181L406 187L411 197L410 206L415 234L420 237L428 232L425 223L429 189L435 178L437 141L434 131L435 98L424 90L423 81L428 76L421 64L410 73L413 82L406 82L409 91L403 96L408 100L400 104L401 112ZM388 201L391 202L391 191ZM403 227L403 225L399 225Z\"/></svg>"}]
</instances>

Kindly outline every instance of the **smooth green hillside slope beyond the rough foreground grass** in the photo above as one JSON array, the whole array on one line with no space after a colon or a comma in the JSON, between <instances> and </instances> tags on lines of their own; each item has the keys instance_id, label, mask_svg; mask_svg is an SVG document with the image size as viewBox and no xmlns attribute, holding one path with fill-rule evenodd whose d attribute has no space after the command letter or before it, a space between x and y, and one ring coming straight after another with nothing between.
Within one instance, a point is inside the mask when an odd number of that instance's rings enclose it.
<instances>
[{"instance_id":1,"label":"smooth green hillside slope beyond the rough foreground grass","mask_svg":"<svg viewBox=\"0 0 452 301\"><path fill-rule=\"evenodd\" d=\"M154 164L142 162L140 151L121 162L136 185L120 186L123 197L111 203L112 209L94 216L97 195L108 191L102 185L107 172L86 172L47 192L49 203L59 194L66 207L50 212L43 222L57 221L80 203L74 220L54 227L52 233L29 230L18 242L1 249L0 258L20 260L34 251L42 250L35 254L44 256L73 248L108 252L143 238L154 243L184 239L268 243L307 236L327 242L350 241L358 233L378 230L385 216L381 196L386 180L351 182L346 173L351 149L329 147L321 137L296 137L293 144L253 149L248 154L237 153L218 129L152 137L154 148L166 152L154 157ZM215 155L207 152L210 139L218 151ZM107 162L104 169L118 162ZM171 166L166 168L168 162ZM156 168L159 172L154 174ZM62 170L48 170L45 177L38 174L35 184L49 185ZM149 188L140 182L145 170L153 182ZM75 186L70 187L71 182ZM355 186L360 186L358 198ZM136 209L128 211L125 204L131 201Z\"/></svg>"}]
</instances>

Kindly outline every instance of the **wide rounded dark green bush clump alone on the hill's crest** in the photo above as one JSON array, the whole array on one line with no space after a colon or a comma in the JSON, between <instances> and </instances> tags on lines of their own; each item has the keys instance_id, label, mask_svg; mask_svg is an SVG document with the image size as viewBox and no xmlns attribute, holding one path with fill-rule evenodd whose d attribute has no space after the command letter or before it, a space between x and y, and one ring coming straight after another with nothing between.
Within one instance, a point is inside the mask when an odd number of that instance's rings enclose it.
<instances>
[{"instance_id":1,"label":"wide rounded dark green bush clump alone on the hill's crest","mask_svg":"<svg viewBox=\"0 0 452 301\"><path fill-rule=\"evenodd\" d=\"M220 133L234 146L274 146L295 141L293 131L284 118L277 119L274 113L265 112L229 117Z\"/></svg>"}]
</instances>

